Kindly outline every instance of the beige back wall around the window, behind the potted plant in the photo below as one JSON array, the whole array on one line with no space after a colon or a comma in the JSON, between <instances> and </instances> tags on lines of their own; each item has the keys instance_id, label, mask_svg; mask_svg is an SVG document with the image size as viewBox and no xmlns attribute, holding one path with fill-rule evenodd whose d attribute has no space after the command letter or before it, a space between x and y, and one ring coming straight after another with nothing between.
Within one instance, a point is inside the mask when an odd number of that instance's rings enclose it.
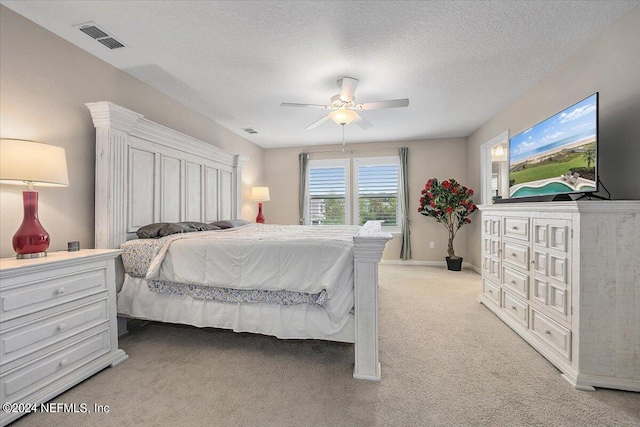
<instances>
[{"instance_id":1,"label":"beige back wall around the window, behind the potted plant","mask_svg":"<svg viewBox=\"0 0 640 427\"><path fill-rule=\"evenodd\" d=\"M333 125L331 123L330 125ZM374 157L397 155L395 151L379 148L409 147L409 201L411 219L411 241L413 259L419 261L443 262L447 255L447 231L432 218L418 213L420 191L429 178L455 178L467 184L467 139L450 138L422 141L398 141L385 143L353 144L347 146L345 153L317 153L312 159L328 157ZM265 180L269 186L271 200L264 203L267 222L277 224L298 223L298 154L301 152L340 150L340 145L322 147L274 148L265 152ZM378 150L376 150L378 148ZM351 153L349 150L357 150ZM361 151L370 150L370 151ZM474 215L475 216L475 215ZM466 227L465 227L466 228ZM456 254L467 256L466 230L462 228L454 247ZM435 242L435 248L429 248L429 242ZM396 236L387 244L384 259L399 259L400 237Z\"/></svg>"}]
</instances>

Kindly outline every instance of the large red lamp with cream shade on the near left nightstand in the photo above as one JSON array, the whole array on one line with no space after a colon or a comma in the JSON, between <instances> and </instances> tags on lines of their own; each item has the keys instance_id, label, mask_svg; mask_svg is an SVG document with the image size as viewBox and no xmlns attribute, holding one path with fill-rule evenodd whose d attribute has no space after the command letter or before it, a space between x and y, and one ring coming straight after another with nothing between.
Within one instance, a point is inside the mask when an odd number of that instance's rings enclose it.
<instances>
[{"instance_id":1,"label":"large red lamp with cream shade on the near left nightstand","mask_svg":"<svg viewBox=\"0 0 640 427\"><path fill-rule=\"evenodd\" d=\"M49 233L38 220L38 192L33 186L69 185L64 148L20 139L0 140L0 182L27 184L27 191L22 192L22 225L13 236L17 258L47 256Z\"/></svg>"}]
</instances>

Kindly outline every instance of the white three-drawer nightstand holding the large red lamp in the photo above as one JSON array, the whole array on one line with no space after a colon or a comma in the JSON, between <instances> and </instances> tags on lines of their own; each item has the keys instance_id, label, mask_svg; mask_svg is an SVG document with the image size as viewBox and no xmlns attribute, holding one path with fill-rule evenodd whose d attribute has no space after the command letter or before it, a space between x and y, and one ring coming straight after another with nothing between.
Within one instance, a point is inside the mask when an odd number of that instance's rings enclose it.
<instances>
[{"instance_id":1,"label":"white three-drawer nightstand holding the large red lamp","mask_svg":"<svg viewBox=\"0 0 640 427\"><path fill-rule=\"evenodd\" d=\"M118 250L0 260L0 401L44 403L107 366L118 349ZM3 408L4 426L24 415Z\"/></svg>"}]
</instances>

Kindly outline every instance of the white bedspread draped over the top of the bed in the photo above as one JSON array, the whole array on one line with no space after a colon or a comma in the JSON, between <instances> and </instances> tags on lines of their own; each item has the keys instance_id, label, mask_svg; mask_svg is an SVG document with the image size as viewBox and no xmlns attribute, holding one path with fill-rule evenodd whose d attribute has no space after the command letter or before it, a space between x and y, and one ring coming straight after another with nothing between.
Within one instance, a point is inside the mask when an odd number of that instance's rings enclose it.
<instances>
[{"instance_id":1,"label":"white bedspread draped over the top of the bed","mask_svg":"<svg viewBox=\"0 0 640 427\"><path fill-rule=\"evenodd\" d=\"M327 292L336 324L353 307L357 226L250 224L168 239L146 279L232 289Z\"/></svg>"}]
</instances>

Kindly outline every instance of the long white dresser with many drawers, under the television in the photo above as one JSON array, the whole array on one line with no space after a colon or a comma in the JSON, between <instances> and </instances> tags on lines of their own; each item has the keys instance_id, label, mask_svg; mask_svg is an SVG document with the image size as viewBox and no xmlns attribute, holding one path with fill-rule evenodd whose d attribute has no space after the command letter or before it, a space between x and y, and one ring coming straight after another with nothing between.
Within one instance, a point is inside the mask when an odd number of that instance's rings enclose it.
<instances>
[{"instance_id":1,"label":"long white dresser with many drawers, under the television","mask_svg":"<svg viewBox=\"0 0 640 427\"><path fill-rule=\"evenodd\" d=\"M640 391L640 201L479 209L478 300L577 389Z\"/></svg>"}]
</instances>

